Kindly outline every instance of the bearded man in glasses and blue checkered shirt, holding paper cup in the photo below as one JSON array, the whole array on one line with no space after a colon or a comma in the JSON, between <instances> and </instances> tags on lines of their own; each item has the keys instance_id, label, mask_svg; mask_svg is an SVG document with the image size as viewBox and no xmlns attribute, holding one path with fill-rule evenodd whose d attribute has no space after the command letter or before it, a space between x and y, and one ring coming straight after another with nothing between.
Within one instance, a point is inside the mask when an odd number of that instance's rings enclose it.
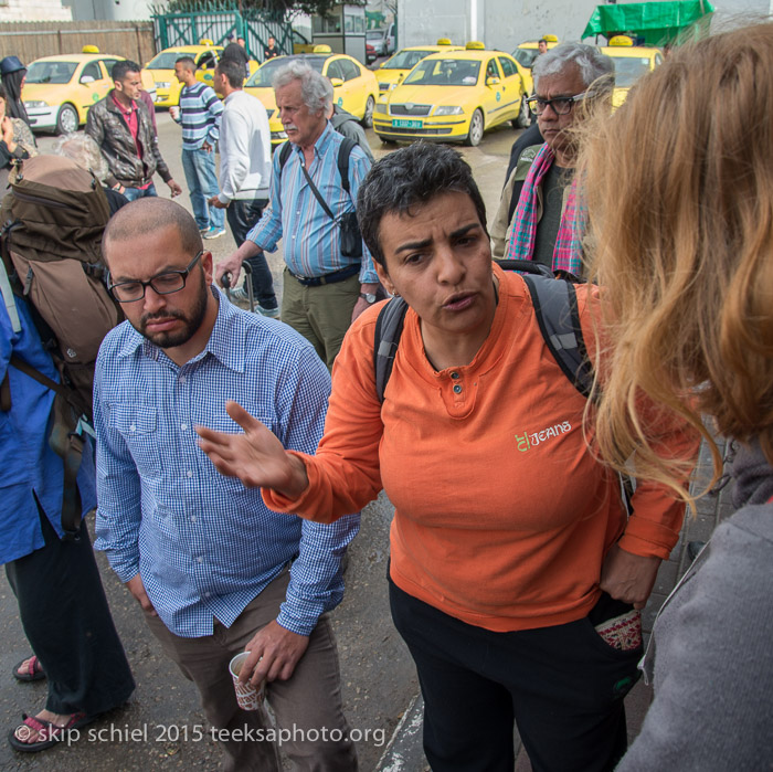
<instances>
[{"instance_id":1,"label":"bearded man in glasses and blue checkered shirt, holding paper cup","mask_svg":"<svg viewBox=\"0 0 773 772\"><path fill-rule=\"evenodd\" d=\"M319 526L271 511L258 489L218 474L194 432L237 431L224 410L237 400L285 447L314 453L327 369L289 327L211 286L212 254L178 204L124 207L104 252L127 321L105 338L95 374L95 547L199 688L225 769L280 769L264 710L236 704L229 662L246 649L244 673L266 678L277 723L292 729L290 759L356 770L325 613L343 594L359 515Z\"/></svg>"}]
</instances>

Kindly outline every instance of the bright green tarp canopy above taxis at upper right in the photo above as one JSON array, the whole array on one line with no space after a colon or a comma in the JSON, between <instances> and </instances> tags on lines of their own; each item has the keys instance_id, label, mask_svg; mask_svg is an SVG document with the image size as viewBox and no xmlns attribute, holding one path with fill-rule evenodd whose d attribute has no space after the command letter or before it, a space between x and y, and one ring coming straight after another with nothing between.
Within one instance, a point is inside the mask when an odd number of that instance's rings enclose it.
<instances>
[{"instance_id":1,"label":"bright green tarp canopy above taxis at upper right","mask_svg":"<svg viewBox=\"0 0 773 772\"><path fill-rule=\"evenodd\" d=\"M627 33L644 38L645 45L664 45L674 42L686 28L706 19L713 10L708 0L597 6L582 36L611 38Z\"/></svg>"}]
</instances>

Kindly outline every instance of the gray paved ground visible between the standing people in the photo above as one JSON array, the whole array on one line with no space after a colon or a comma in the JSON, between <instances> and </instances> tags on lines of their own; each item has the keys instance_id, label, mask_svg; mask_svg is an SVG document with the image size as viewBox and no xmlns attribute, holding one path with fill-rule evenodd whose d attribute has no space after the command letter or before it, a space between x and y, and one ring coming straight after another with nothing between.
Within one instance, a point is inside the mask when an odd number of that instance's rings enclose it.
<instances>
[{"instance_id":1,"label":"gray paved ground visible between the standing people","mask_svg":"<svg viewBox=\"0 0 773 772\"><path fill-rule=\"evenodd\" d=\"M161 152L174 179L186 189L180 162L180 129L166 113L159 113ZM386 152L372 131L368 131L377 157ZM509 127L494 129L477 148L464 148L473 166L489 209L496 208L509 156L517 133ZM40 140L41 149L50 147L52 138ZM392 149L392 148L390 148ZM167 187L158 181L158 190L168 195ZM183 193L178 201L190 209ZM205 242L215 262L235 248L229 233ZM277 283L282 285L282 253L269 256ZM351 547L347 572L347 594L333 613L339 642L343 680L345 708L352 728L369 732L369 739L358 742L362 770L373 770L410 702L417 692L415 670L407 653L392 627L386 602L386 559L389 524L392 507L385 498L369 506L363 514L360 536ZM104 721L93 726L99 734L89 739L87 732L71 748L60 745L42 754L15 753L0 740L0 771L46 770L102 772L219 768L220 750L209 739L199 709L195 689L168 663L128 592L116 580L98 556L103 581L116 625L131 663L137 691L129 705ZM0 727L10 729L23 711L35 713L45 700L43 683L20 684L10 673L12 666L29 653L15 605L15 600L0 572L0 622L3 646L0 649ZM201 740L194 739L203 731ZM110 734L112 733L112 734ZM187 736L187 739L186 739ZM112 739L110 739L112 737Z\"/></svg>"}]
</instances>

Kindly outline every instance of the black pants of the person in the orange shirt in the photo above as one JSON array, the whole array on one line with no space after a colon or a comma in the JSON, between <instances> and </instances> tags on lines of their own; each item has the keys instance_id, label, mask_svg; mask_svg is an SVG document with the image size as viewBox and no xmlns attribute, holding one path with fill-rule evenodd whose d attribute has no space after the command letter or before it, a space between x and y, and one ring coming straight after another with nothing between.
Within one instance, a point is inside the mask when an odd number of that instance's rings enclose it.
<instances>
[{"instance_id":1,"label":"black pants of the person in the orange shirt","mask_svg":"<svg viewBox=\"0 0 773 772\"><path fill-rule=\"evenodd\" d=\"M534 772L614 769L626 749L623 697L640 648L612 648L586 618L494 633L392 581L390 603L416 663L433 772L512 772L513 720Z\"/></svg>"}]
</instances>

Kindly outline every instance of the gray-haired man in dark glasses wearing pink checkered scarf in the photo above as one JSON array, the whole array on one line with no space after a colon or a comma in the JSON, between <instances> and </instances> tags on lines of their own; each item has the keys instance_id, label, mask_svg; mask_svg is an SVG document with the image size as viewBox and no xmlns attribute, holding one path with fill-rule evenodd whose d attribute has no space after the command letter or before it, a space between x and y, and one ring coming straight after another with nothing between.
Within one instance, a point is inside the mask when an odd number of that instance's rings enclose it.
<instances>
[{"instance_id":1,"label":"gray-haired man in dark glasses wearing pink checkered scarf","mask_svg":"<svg viewBox=\"0 0 773 772\"><path fill-rule=\"evenodd\" d=\"M491 225L494 255L533 260L582 275L573 129L595 107L610 109L614 65L593 45L563 43L537 57L528 103L544 139L526 148Z\"/></svg>"}]
</instances>

